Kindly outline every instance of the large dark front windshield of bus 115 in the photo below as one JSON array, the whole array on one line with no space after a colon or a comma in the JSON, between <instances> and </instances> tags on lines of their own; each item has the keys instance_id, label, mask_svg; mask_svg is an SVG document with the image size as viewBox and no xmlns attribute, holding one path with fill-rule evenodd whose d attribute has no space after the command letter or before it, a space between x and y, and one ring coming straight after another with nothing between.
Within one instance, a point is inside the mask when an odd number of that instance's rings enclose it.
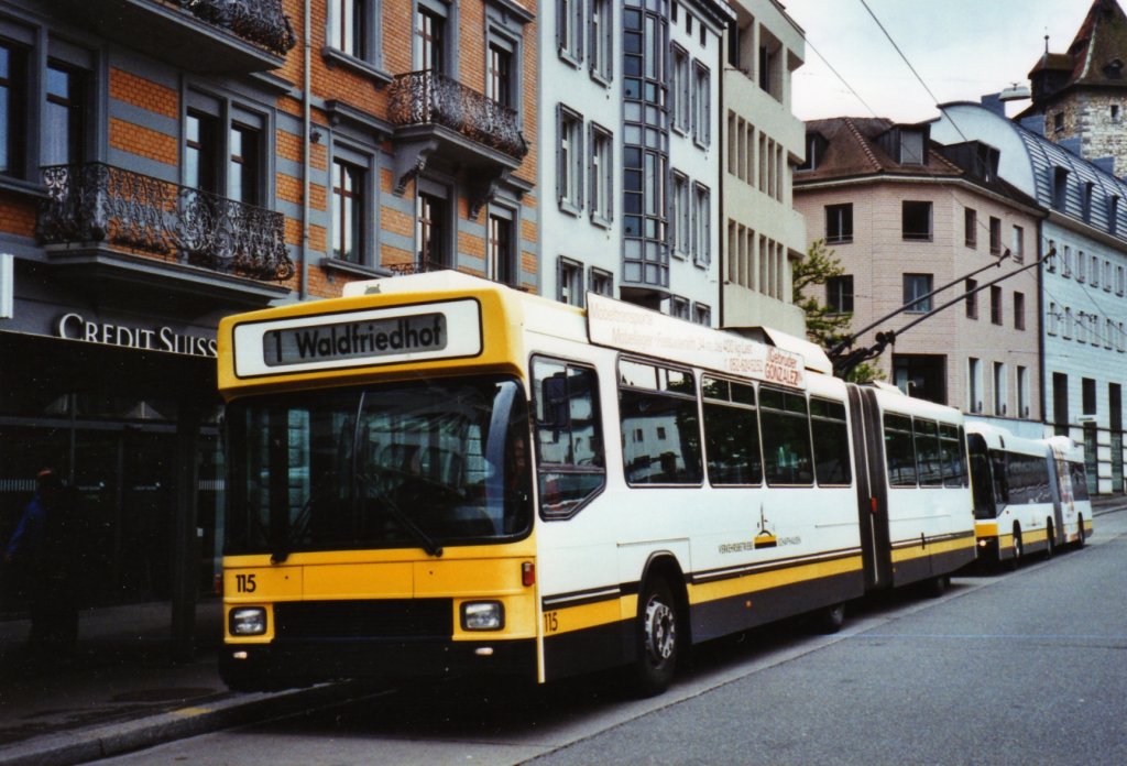
<instances>
[{"instance_id":1,"label":"large dark front windshield of bus 115","mask_svg":"<svg viewBox=\"0 0 1127 766\"><path fill-rule=\"evenodd\" d=\"M228 554L441 555L529 529L527 407L513 378L254 398L227 419Z\"/></svg>"}]
</instances>

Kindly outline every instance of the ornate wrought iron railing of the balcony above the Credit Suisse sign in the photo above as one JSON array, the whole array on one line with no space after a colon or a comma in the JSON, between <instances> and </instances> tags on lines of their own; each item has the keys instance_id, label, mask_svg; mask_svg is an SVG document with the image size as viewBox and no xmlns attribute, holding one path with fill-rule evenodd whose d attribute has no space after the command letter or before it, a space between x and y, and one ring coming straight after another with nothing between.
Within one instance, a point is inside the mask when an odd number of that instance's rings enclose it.
<instances>
[{"instance_id":1,"label":"ornate wrought iron railing of the balcony above the Credit Suisse sign","mask_svg":"<svg viewBox=\"0 0 1127 766\"><path fill-rule=\"evenodd\" d=\"M109 244L256 279L289 279L285 217L101 162L43 168L44 244Z\"/></svg>"}]
</instances>

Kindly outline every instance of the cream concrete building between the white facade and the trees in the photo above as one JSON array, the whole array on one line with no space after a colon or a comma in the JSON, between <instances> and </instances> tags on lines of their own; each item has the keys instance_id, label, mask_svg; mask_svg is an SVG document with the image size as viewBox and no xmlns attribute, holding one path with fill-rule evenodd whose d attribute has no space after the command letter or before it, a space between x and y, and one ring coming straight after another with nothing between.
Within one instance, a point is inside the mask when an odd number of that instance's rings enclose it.
<instances>
[{"instance_id":1,"label":"cream concrete building between the white facade and the trees","mask_svg":"<svg viewBox=\"0 0 1127 766\"><path fill-rule=\"evenodd\" d=\"M792 264L806 255L806 222L793 205L805 159L802 122L791 113L791 74L802 30L772 0L736 0L725 34L722 327L806 330L791 295Z\"/></svg>"}]
</instances>

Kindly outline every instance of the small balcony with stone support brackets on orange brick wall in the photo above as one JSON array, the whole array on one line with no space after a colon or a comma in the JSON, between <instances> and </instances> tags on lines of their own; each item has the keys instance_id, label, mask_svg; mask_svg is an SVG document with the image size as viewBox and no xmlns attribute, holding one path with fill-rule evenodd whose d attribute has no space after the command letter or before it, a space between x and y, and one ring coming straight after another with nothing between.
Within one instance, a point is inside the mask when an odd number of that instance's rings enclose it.
<instances>
[{"instance_id":1,"label":"small balcony with stone support brackets on orange brick wall","mask_svg":"<svg viewBox=\"0 0 1127 766\"><path fill-rule=\"evenodd\" d=\"M388 118L396 126L396 193L437 161L472 181L470 215L521 167L529 144L514 109L432 71L394 78Z\"/></svg>"}]
</instances>

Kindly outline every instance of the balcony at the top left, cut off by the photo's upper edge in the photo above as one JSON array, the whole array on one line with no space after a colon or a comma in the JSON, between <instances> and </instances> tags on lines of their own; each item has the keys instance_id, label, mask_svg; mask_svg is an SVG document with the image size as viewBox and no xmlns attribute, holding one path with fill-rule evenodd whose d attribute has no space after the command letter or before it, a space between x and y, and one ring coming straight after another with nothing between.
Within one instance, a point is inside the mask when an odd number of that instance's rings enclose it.
<instances>
[{"instance_id":1,"label":"balcony at the top left, cut off by the photo's upper edge","mask_svg":"<svg viewBox=\"0 0 1127 766\"><path fill-rule=\"evenodd\" d=\"M282 0L48 0L69 20L189 72L264 72L296 38Z\"/></svg>"}]
</instances>

